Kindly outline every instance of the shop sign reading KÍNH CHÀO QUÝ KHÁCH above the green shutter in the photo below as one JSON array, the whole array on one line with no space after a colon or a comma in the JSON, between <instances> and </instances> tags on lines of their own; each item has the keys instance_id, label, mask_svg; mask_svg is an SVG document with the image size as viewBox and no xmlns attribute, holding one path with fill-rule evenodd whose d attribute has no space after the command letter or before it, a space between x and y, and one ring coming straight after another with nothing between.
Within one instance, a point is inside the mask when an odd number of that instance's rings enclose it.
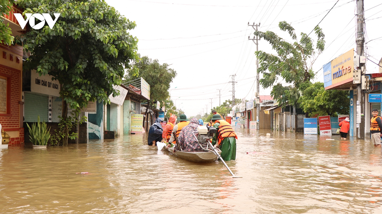
<instances>
[{"instance_id":1,"label":"shop sign reading K\u00cdNH CH\u00c0O QU\u00dd KH\u00c1CH above the green shutter","mask_svg":"<svg viewBox=\"0 0 382 214\"><path fill-rule=\"evenodd\" d=\"M48 74L40 77L36 70L31 70L31 92L59 97L60 82L52 78Z\"/></svg>"}]
</instances>

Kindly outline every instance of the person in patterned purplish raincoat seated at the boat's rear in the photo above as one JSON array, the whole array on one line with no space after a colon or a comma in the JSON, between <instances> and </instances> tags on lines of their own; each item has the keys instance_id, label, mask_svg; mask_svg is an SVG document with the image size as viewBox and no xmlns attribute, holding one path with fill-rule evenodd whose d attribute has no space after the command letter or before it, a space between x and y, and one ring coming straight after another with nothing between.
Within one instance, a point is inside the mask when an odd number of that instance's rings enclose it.
<instances>
[{"instance_id":1,"label":"person in patterned purplish raincoat seated at the boat's rear","mask_svg":"<svg viewBox=\"0 0 382 214\"><path fill-rule=\"evenodd\" d=\"M199 121L196 119L196 117L193 117L191 118L189 124L183 127L178 137L179 145L183 151L191 152L202 150L202 147L199 145L193 134L194 131L197 132L196 128L198 126ZM195 133L195 136L197 136L197 133ZM178 150L178 147L174 147L174 151L175 150Z\"/></svg>"}]
</instances>

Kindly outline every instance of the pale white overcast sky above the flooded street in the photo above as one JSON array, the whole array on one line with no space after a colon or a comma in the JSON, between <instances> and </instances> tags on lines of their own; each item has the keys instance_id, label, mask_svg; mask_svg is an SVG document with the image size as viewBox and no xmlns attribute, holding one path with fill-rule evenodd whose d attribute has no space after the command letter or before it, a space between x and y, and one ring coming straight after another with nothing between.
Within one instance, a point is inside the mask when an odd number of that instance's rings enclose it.
<instances>
[{"instance_id":1,"label":"pale white overcast sky above the flooded street","mask_svg":"<svg viewBox=\"0 0 382 214\"><path fill-rule=\"evenodd\" d=\"M322 65L354 48L356 50L355 0L106 0L137 26L130 34L138 38L138 53L176 70L169 89L177 109L196 116L210 113L225 100L255 98L256 45L254 29L273 31L287 41L291 38L278 28L286 21L309 34L317 24L325 34L325 50L313 65L314 82L323 82ZM334 7L333 7L334 6ZM333 7L333 8L332 8ZM332 8L332 10L330 10ZM330 12L329 12L330 10ZM364 1L365 52L368 72L378 72L382 57L382 2ZM328 13L329 12L329 13ZM310 34L316 41L314 32ZM260 40L259 50L275 53L269 43ZM373 62L371 62L373 61ZM260 78L262 75L260 74ZM278 80L283 83L282 80ZM285 84L285 83L283 83ZM220 90L220 98L219 98ZM260 95L271 88L260 86Z\"/></svg>"}]
</instances>

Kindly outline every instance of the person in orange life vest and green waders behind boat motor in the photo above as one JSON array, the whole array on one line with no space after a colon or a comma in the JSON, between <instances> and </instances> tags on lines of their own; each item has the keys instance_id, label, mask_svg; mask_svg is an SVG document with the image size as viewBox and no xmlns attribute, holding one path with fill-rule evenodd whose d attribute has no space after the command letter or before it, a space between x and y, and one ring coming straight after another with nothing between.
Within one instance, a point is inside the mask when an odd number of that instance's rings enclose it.
<instances>
[{"instance_id":1,"label":"person in orange life vest and green waders behind boat motor","mask_svg":"<svg viewBox=\"0 0 382 214\"><path fill-rule=\"evenodd\" d=\"M214 128L217 133L212 138L212 145L218 147L222 153L220 154L225 161L236 159L236 136L231 124L223 120L220 115L215 114L211 119L214 122Z\"/></svg>"}]
</instances>

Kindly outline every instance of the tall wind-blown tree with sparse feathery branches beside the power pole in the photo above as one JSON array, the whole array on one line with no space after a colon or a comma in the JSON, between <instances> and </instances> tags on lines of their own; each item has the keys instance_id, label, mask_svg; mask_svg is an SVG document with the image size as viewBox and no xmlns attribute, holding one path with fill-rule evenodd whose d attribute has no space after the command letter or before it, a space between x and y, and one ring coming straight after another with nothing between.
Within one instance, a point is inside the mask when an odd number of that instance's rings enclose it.
<instances>
[{"instance_id":1,"label":"tall wind-blown tree with sparse feathery branches beside the power pole","mask_svg":"<svg viewBox=\"0 0 382 214\"><path fill-rule=\"evenodd\" d=\"M294 42L288 42L271 31L256 31L254 34L267 40L276 51L276 54L256 51L260 62L257 72L263 73L261 85L264 88L272 86L271 95L280 105L285 106L286 101L290 105L296 105L301 91L310 85L310 80L314 77L312 65L324 50L325 35L319 26L314 28L317 36L316 47L314 47L313 40L305 33L301 33L301 38L298 40L295 29L287 22L280 22L278 27L288 32ZM280 82L275 84L278 78L282 78L288 86Z\"/></svg>"}]
</instances>

